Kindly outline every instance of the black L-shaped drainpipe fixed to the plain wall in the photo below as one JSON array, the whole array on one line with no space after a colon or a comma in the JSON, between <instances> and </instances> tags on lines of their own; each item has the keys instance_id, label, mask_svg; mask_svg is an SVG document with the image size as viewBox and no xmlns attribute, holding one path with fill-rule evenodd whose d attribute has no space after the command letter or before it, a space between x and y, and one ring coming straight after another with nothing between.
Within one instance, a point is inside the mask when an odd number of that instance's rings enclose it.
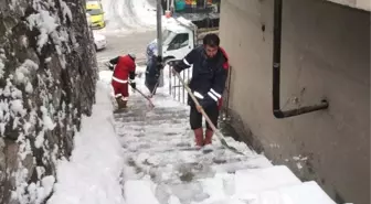
<instances>
[{"instance_id":1,"label":"black L-shaped drainpipe fixed to the plain wall","mask_svg":"<svg viewBox=\"0 0 371 204\"><path fill-rule=\"evenodd\" d=\"M329 104L321 100L320 104L306 106L290 110L280 109L280 42L282 42L282 11L283 0L274 0L274 30L273 30L273 115L276 118L288 118L316 110L327 109Z\"/></svg>"}]
</instances>

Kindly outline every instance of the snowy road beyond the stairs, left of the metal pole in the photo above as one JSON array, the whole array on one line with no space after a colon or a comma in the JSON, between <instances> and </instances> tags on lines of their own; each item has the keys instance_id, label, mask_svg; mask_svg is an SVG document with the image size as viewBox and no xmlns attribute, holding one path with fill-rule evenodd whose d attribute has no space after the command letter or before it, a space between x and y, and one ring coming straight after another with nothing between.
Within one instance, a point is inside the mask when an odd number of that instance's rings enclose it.
<instances>
[{"instance_id":1,"label":"snowy road beyond the stairs, left of the metal pole","mask_svg":"<svg viewBox=\"0 0 371 204\"><path fill-rule=\"evenodd\" d=\"M94 32L106 36L107 47L97 53L99 67L127 53L135 53L137 63L142 64L147 44L156 39L156 0L103 0L102 3L107 25Z\"/></svg>"}]
</instances>

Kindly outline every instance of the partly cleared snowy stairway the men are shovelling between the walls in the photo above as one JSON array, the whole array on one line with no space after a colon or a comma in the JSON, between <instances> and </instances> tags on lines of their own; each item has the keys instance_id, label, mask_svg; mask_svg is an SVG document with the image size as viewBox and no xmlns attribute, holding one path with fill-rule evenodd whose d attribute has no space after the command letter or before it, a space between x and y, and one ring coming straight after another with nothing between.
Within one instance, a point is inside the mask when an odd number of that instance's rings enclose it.
<instances>
[{"instance_id":1,"label":"partly cleared snowy stairway the men are shovelling between the walls","mask_svg":"<svg viewBox=\"0 0 371 204\"><path fill-rule=\"evenodd\" d=\"M145 90L145 87L139 87ZM189 109L159 93L149 110L139 94L115 114L114 127L126 159L124 192L128 204L335 204L316 182L301 182L284 165L272 165L245 144L246 155L220 144L208 154L193 147Z\"/></svg>"}]
</instances>

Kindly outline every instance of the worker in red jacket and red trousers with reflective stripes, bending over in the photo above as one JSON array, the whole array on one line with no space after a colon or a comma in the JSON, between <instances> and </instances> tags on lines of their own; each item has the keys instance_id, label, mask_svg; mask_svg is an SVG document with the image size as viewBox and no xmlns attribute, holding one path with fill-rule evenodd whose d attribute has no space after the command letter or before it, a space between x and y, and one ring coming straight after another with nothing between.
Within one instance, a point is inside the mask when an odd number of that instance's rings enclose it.
<instances>
[{"instance_id":1,"label":"worker in red jacket and red trousers with reflective stripes, bending over","mask_svg":"<svg viewBox=\"0 0 371 204\"><path fill-rule=\"evenodd\" d=\"M115 98L119 109L127 107L127 100L129 97L128 83L131 88L136 88L135 60L135 54L128 54L117 56L109 61L109 69L114 71L112 86L114 87ZM116 67L114 65L116 65Z\"/></svg>"}]
</instances>

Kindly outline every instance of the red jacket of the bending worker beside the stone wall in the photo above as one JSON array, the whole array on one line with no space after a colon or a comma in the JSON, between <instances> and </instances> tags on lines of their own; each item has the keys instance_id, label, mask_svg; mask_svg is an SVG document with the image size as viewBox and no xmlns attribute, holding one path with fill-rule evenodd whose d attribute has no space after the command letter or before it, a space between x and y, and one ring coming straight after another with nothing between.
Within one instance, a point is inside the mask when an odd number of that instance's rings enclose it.
<instances>
[{"instance_id":1,"label":"red jacket of the bending worker beside the stone wall","mask_svg":"<svg viewBox=\"0 0 371 204\"><path fill-rule=\"evenodd\" d=\"M136 64L129 55L118 56L110 60L109 63L116 64L113 80L124 84L127 83L130 73L132 73L130 75L134 76L134 73L136 71Z\"/></svg>"}]
</instances>

